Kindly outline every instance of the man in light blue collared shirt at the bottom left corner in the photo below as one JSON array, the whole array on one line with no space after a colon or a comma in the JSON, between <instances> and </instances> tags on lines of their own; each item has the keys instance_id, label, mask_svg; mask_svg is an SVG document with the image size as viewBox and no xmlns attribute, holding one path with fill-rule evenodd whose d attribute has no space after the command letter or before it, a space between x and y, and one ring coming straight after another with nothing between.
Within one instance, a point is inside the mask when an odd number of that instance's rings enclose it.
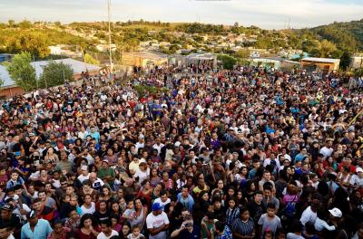
<instances>
[{"instance_id":1,"label":"man in light blue collared shirt at the bottom left corner","mask_svg":"<svg viewBox=\"0 0 363 239\"><path fill-rule=\"evenodd\" d=\"M28 223L22 226L21 239L38 239L47 238L53 229L49 222L39 219L35 211L31 211L27 215Z\"/></svg>"}]
</instances>

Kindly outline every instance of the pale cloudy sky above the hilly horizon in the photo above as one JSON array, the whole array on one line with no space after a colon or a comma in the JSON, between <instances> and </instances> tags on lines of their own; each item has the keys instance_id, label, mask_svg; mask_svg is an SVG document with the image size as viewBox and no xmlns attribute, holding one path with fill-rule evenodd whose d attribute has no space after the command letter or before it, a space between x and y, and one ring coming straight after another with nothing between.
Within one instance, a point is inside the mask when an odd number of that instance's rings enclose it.
<instances>
[{"instance_id":1,"label":"pale cloudy sky above the hilly horizon","mask_svg":"<svg viewBox=\"0 0 363 239\"><path fill-rule=\"evenodd\" d=\"M0 0L0 22L107 20L107 0ZM363 0L111 0L112 21L313 27L363 18Z\"/></svg>"}]
</instances>

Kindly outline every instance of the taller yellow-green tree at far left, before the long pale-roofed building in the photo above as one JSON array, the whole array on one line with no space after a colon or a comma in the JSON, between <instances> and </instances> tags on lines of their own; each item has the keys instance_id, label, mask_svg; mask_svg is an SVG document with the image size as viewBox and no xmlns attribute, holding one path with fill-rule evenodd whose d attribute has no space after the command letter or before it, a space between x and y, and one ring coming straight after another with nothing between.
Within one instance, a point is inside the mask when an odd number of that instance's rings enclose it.
<instances>
[{"instance_id":1,"label":"taller yellow-green tree at far left, before the long pale-roofed building","mask_svg":"<svg viewBox=\"0 0 363 239\"><path fill-rule=\"evenodd\" d=\"M15 84L25 91L31 91L36 87L35 69L30 62L32 62L30 53L20 53L15 54L12 62L6 65Z\"/></svg>"}]
</instances>

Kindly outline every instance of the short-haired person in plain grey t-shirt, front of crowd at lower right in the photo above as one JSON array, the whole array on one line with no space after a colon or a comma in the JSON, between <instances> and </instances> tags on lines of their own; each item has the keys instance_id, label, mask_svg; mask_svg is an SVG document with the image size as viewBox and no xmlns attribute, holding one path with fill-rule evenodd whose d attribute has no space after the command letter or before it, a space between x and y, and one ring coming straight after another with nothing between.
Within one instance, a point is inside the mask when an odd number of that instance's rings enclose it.
<instances>
[{"instance_id":1,"label":"short-haired person in plain grey t-shirt, front of crowd at lower right","mask_svg":"<svg viewBox=\"0 0 363 239\"><path fill-rule=\"evenodd\" d=\"M269 203L267 205L267 213L260 216L260 220L258 225L260 225L260 238L264 237L265 232L270 230L273 235L276 234L276 231L281 228L281 221L280 217L275 215L276 209L275 205Z\"/></svg>"}]
</instances>

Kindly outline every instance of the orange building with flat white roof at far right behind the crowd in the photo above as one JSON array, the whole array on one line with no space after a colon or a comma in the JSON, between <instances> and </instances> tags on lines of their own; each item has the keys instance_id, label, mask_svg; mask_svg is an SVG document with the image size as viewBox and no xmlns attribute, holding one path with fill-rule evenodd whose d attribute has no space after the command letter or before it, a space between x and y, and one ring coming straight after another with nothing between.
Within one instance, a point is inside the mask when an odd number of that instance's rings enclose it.
<instances>
[{"instance_id":1,"label":"orange building with flat white roof at far right behind the crowd","mask_svg":"<svg viewBox=\"0 0 363 239\"><path fill-rule=\"evenodd\" d=\"M340 59L306 57L301 59L301 68L308 72L335 72L338 71Z\"/></svg>"}]
</instances>

